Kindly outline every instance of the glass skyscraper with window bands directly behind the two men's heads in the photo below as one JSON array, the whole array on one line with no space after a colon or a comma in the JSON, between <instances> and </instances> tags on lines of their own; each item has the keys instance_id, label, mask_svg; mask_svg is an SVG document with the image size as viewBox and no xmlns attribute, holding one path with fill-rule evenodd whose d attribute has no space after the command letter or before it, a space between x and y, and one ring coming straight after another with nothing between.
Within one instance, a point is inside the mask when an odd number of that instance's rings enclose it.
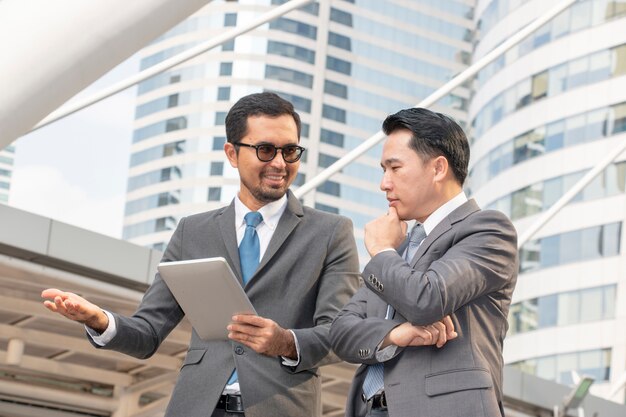
<instances>
[{"instance_id":1,"label":"glass skyscraper with window bands directly behind the two men's heads","mask_svg":"<svg viewBox=\"0 0 626 417\"><path fill-rule=\"evenodd\" d=\"M250 22L285 0L214 0L143 50L142 68ZM239 181L223 153L224 118L240 97L273 91L303 121L295 186L467 67L473 1L313 2L148 81L138 89L124 238L163 249L181 216L228 204ZM465 124L470 92L435 109ZM387 207L380 146L304 197L366 222Z\"/></svg>"}]
</instances>

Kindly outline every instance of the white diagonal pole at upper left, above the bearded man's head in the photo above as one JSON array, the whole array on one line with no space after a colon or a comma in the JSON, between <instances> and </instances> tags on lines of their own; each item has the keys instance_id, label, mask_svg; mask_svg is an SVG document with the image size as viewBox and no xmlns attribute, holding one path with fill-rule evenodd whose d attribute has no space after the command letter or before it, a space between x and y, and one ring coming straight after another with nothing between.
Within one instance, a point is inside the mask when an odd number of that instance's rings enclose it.
<instances>
[{"instance_id":1,"label":"white diagonal pole at upper left, above the bearded man's head","mask_svg":"<svg viewBox=\"0 0 626 417\"><path fill-rule=\"evenodd\" d=\"M168 69L175 67L178 64L181 64L185 61L195 58L198 55L203 54L206 51L212 48L215 48L216 46L221 45L222 43L226 41L234 39L235 37L242 35L244 33L250 32L251 30L261 26L262 24L267 23L271 20L274 20L277 17L280 17L294 9L302 7L306 5L307 3L311 3L312 1L313 0L291 0L285 4L282 4L272 9L271 11L261 15L261 17L259 17L258 19L246 25L224 32L222 35L219 35L213 38L212 40L209 40L193 48L190 48L189 50L182 52L178 55L175 55L163 62L160 62L144 71L139 72L136 75L133 75L125 80L122 80L116 84L113 84L111 87L106 88L92 95L91 97L81 100L73 105L68 105L68 106L60 108L59 110L51 113L48 117L46 117L41 122L39 122L35 127L33 127L31 132L34 130L40 129L44 126L47 126L50 123L56 122L57 120L67 117L73 113L76 113L77 111L82 110L85 107L91 106L92 104L95 104L101 100L104 100L107 97L110 97L114 94L119 93L120 91L123 91L129 87L132 87L135 84L138 84L144 80L147 80L150 77L153 77L157 74L167 71Z\"/></svg>"}]
</instances>

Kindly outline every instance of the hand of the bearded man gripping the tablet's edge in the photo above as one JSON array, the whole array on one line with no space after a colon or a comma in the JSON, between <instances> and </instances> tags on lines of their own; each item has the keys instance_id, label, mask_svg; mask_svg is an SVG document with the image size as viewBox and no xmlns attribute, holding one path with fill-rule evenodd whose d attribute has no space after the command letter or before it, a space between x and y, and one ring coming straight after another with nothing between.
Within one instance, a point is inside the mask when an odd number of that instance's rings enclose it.
<instances>
[{"instance_id":1,"label":"hand of the bearded man gripping the tablet's edge","mask_svg":"<svg viewBox=\"0 0 626 417\"><path fill-rule=\"evenodd\" d=\"M252 314L233 316L228 325L228 338L267 356L297 359L293 334L275 321Z\"/></svg>"}]
</instances>

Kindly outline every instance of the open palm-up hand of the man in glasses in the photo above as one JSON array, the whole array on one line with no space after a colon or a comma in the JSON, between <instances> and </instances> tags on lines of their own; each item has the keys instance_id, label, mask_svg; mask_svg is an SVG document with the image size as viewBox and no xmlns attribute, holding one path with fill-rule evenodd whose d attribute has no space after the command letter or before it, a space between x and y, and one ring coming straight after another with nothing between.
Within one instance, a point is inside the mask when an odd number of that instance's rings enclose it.
<instances>
[{"instance_id":1,"label":"open palm-up hand of the man in glasses","mask_svg":"<svg viewBox=\"0 0 626 417\"><path fill-rule=\"evenodd\" d=\"M77 294L48 288L41 292L41 297L47 299L43 305L48 310L82 323L98 333L104 332L109 325L109 318L100 307Z\"/></svg>"}]
</instances>

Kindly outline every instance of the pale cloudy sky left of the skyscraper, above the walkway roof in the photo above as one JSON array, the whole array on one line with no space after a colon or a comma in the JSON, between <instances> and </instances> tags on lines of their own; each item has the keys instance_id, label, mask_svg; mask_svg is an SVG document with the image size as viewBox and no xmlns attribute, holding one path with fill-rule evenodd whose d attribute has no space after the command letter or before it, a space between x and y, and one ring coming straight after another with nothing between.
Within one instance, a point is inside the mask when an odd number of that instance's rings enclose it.
<instances>
[{"instance_id":1,"label":"pale cloudy sky left of the skyscraper, above the walkway roof","mask_svg":"<svg viewBox=\"0 0 626 417\"><path fill-rule=\"evenodd\" d=\"M73 100L138 71L133 56ZM121 238L135 97L129 88L14 142L9 204Z\"/></svg>"}]
</instances>

